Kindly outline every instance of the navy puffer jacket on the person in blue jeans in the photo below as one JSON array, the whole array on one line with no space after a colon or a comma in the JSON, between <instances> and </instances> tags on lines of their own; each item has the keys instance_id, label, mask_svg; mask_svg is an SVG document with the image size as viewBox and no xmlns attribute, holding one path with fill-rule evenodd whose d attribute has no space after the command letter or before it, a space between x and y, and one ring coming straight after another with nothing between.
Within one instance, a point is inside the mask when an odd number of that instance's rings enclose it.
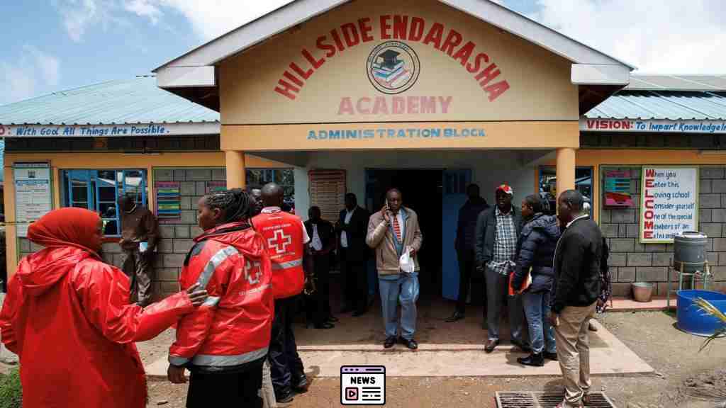
<instances>
[{"instance_id":1,"label":"navy puffer jacket on the person in blue jeans","mask_svg":"<svg viewBox=\"0 0 726 408\"><path fill-rule=\"evenodd\" d=\"M532 283L529 291L535 293L552 290L552 281L555 280L552 261L559 239L560 227L554 216L537 213L522 227L517 242L517 266L512 282L514 287L521 287L531 268Z\"/></svg>"}]
</instances>

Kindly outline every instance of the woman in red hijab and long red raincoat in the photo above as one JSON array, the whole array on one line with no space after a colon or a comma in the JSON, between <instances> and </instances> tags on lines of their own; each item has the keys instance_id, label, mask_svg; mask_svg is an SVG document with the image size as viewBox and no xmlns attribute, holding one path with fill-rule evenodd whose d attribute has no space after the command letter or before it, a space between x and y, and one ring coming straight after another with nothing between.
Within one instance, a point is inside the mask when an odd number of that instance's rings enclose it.
<instances>
[{"instance_id":1,"label":"woman in red hijab and long red raincoat","mask_svg":"<svg viewBox=\"0 0 726 408\"><path fill-rule=\"evenodd\" d=\"M134 342L154 338L206 298L190 287L142 309L129 278L99 257L99 216L61 208L30 224L45 247L20 261L0 312L2 342L20 356L23 407L142 408L147 390Z\"/></svg>"}]
</instances>

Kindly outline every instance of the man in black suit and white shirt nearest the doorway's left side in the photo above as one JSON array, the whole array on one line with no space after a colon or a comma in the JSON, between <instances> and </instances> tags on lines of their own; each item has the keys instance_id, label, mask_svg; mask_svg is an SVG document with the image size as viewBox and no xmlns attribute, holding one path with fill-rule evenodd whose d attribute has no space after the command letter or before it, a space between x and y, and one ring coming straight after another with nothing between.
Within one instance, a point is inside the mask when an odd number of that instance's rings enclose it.
<instances>
[{"instance_id":1,"label":"man in black suit and white shirt nearest the doorway's left side","mask_svg":"<svg viewBox=\"0 0 726 408\"><path fill-rule=\"evenodd\" d=\"M349 192L346 194L346 208L340 211L340 218L335 223L335 232L339 234L340 272L343 275L345 293L345 306L341 313L354 311L354 317L364 314L368 306L366 260L369 249L365 243L367 231L368 211L359 207L356 195Z\"/></svg>"}]
</instances>

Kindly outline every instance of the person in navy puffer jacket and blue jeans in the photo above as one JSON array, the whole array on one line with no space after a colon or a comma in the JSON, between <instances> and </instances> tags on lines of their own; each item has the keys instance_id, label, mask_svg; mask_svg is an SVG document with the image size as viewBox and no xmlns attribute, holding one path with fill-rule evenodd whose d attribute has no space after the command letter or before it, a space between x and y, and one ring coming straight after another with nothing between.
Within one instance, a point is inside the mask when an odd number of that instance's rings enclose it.
<instances>
[{"instance_id":1,"label":"person in navy puffer jacket and blue jeans","mask_svg":"<svg viewBox=\"0 0 726 408\"><path fill-rule=\"evenodd\" d=\"M512 286L521 289L527 274L531 274L531 284L522 292L531 354L517 359L519 364L542 367L544 359L557 360L555 331L547 317L550 314L550 293L555 272L552 260L555 257L560 227L555 216L542 213L542 200L539 195L529 195L522 200L522 218L525 225L517 242L516 266Z\"/></svg>"}]
</instances>

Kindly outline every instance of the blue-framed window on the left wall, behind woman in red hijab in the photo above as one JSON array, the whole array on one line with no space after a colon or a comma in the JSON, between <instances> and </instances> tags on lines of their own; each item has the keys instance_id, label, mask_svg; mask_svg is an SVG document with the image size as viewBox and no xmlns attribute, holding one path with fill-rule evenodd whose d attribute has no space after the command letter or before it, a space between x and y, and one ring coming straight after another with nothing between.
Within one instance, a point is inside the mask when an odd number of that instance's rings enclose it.
<instances>
[{"instance_id":1,"label":"blue-framed window on the left wall, behind woman in red hijab","mask_svg":"<svg viewBox=\"0 0 726 408\"><path fill-rule=\"evenodd\" d=\"M121 235L116 201L121 195L134 197L146 206L146 172L143 170L63 170L61 202L64 207L87 208L103 220L106 235Z\"/></svg>"}]
</instances>

